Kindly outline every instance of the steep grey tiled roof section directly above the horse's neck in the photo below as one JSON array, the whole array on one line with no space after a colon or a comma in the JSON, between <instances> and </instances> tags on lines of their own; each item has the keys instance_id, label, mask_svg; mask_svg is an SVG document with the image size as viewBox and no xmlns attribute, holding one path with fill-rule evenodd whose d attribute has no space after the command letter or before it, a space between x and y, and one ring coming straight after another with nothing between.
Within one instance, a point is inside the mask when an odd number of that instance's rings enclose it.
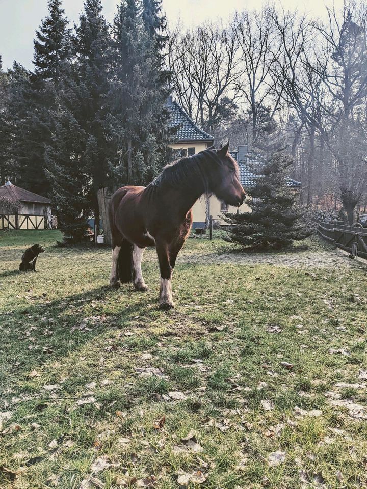
<instances>
[{"instance_id":1,"label":"steep grey tiled roof section directly above the horse's neck","mask_svg":"<svg viewBox=\"0 0 367 489\"><path fill-rule=\"evenodd\" d=\"M177 102L172 101L165 105L170 111L170 120L168 127L176 128L176 142L179 141L207 141L212 142L214 138L211 134L203 131L192 119L186 114L183 108Z\"/></svg>"}]
</instances>

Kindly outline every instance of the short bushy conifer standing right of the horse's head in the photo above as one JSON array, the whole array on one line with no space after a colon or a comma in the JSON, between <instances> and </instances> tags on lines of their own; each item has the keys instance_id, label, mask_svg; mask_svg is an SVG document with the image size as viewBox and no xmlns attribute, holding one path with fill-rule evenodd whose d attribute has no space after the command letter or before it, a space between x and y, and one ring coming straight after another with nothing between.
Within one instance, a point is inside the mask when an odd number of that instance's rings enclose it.
<instances>
[{"instance_id":1,"label":"short bushy conifer standing right of the horse's head","mask_svg":"<svg viewBox=\"0 0 367 489\"><path fill-rule=\"evenodd\" d=\"M227 240L245 247L283 248L311 234L302 222L296 195L287 186L293 160L274 125L269 130L250 165L254 178L247 192L252 197L252 212L225 214L230 224Z\"/></svg>"}]
</instances>

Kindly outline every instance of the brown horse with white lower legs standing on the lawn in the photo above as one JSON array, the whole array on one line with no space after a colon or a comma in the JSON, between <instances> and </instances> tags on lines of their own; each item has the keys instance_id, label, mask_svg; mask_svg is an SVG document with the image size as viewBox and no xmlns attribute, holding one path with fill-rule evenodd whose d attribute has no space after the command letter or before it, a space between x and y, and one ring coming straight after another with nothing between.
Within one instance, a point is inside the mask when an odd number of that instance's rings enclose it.
<instances>
[{"instance_id":1,"label":"brown horse with white lower legs standing on the lawn","mask_svg":"<svg viewBox=\"0 0 367 489\"><path fill-rule=\"evenodd\" d=\"M134 282L136 290L148 290L141 261L144 249L155 246L161 270L160 308L174 307L172 270L191 228L192 206L204 193L235 206L245 199L238 165L228 154L228 146L167 165L147 187L128 185L114 193L109 206L112 287L119 287L120 280Z\"/></svg>"}]
</instances>

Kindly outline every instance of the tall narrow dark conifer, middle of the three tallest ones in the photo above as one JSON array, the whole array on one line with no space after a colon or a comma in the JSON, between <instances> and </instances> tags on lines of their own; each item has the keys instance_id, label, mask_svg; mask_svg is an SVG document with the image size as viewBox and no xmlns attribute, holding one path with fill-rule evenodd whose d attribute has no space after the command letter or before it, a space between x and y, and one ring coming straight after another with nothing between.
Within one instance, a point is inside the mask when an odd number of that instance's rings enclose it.
<instances>
[{"instance_id":1,"label":"tall narrow dark conifer, middle of the three tallest ones","mask_svg":"<svg viewBox=\"0 0 367 489\"><path fill-rule=\"evenodd\" d=\"M108 179L111 145L108 124L108 79L111 37L100 0L85 0L74 49L78 69L73 114L85 133L83 164L91 176L91 199L95 224L99 226L97 191Z\"/></svg>"}]
</instances>

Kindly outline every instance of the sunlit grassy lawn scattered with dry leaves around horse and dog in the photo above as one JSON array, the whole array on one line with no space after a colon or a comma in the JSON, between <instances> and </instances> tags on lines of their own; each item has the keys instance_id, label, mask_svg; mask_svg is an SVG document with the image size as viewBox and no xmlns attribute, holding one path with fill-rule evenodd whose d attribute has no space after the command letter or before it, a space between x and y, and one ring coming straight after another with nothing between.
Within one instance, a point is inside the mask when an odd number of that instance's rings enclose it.
<instances>
[{"instance_id":1,"label":"sunlit grassy lawn scattered with dry leaves around horse and dog","mask_svg":"<svg viewBox=\"0 0 367 489\"><path fill-rule=\"evenodd\" d=\"M0 487L367 487L365 271L178 257L167 313L57 239L0 234Z\"/></svg>"}]
</instances>

